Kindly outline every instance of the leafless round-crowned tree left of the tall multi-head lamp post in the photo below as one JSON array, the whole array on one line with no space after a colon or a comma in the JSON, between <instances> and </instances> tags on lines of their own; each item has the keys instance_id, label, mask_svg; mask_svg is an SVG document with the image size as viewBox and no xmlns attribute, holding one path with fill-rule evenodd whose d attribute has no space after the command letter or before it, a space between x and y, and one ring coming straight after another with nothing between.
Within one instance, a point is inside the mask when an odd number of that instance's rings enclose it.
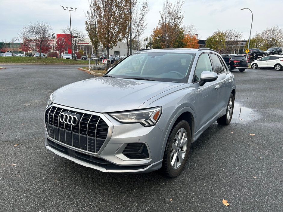
<instances>
[{"instance_id":1,"label":"leafless round-crowned tree left of the tall multi-head lamp post","mask_svg":"<svg viewBox=\"0 0 283 212\"><path fill-rule=\"evenodd\" d=\"M42 45L49 39L52 27L46 22L30 23L26 30L33 42L39 47L39 58L41 58Z\"/></svg>"}]
</instances>

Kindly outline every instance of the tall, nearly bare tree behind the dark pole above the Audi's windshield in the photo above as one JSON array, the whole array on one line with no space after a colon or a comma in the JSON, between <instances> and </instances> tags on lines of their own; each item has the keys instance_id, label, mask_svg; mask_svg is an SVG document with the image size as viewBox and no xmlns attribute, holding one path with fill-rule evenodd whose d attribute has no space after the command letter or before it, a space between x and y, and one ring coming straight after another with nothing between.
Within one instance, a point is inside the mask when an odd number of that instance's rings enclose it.
<instances>
[{"instance_id":1,"label":"tall, nearly bare tree behind the dark pole above the Audi's windshield","mask_svg":"<svg viewBox=\"0 0 283 212\"><path fill-rule=\"evenodd\" d=\"M145 22L145 15L148 14L150 7L148 1L145 0L140 5L137 0L132 0L132 42L137 40L145 32L147 23ZM129 14L130 15L130 14ZM129 55L130 48L130 23L128 23L126 31L127 55Z\"/></svg>"}]
</instances>

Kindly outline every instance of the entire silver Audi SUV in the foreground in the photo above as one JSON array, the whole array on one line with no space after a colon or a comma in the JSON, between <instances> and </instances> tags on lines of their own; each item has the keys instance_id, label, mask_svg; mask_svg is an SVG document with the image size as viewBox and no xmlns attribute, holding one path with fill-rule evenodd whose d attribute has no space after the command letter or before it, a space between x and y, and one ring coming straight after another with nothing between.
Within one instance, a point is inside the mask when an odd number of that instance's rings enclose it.
<instances>
[{"instance_id":1,"label":"entire silver Audi SUV in the foreground","mask_svg":"<svg viewBox=\"0 0 283 212\"><path fill-rule=\"evenodd\" d=\"M45 146L104 172L178 176L191 143L214 121L229 124L235 79L214 50L151 49L104 76L68 84L45 109Z\"/></svg>"}]
</instances>

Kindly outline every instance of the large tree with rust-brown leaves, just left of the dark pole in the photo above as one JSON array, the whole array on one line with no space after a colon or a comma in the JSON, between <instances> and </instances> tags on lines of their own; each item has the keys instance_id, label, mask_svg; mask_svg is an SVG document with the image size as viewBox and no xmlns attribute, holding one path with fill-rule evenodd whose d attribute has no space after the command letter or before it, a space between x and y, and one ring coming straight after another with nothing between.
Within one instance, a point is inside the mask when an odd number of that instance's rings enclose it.
<instances>
[{"instance_id":1,"label":"large tree with rust-brown leaves, just left of the dark pole","mask_svg":"<svg viewBox=\"0 0 283 212\"><path fill-rule=\"evenodd\" d=\"M107 61L109 61L109 49L126 36L129 23L129 0L94 0L94 5L98 14L98 38L106 48ZM109 64L107 64L108 67Z\"/></svg>"}]
</instances>

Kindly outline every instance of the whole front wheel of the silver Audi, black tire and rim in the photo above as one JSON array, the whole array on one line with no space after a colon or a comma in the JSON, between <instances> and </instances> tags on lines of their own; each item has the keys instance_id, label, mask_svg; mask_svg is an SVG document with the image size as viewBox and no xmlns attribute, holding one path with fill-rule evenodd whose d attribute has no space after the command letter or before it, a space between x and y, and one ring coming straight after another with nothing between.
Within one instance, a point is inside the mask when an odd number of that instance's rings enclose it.
<instances>
[{"instance_id":1,"label":"whole front wheel of the silver Audi, black tire and rim","mask_svg":"<svg viewBox=\"0 0 283 212\"><path fill-rule=\"evenodd\" d=\"M181 140L178 141L178 137L181 137ZM185 120L179 121L171 130L167 140L161 168L165 176L174 178L182 172L190 153L190 147L190 125Z\"/></svg>"}]
</instances>

